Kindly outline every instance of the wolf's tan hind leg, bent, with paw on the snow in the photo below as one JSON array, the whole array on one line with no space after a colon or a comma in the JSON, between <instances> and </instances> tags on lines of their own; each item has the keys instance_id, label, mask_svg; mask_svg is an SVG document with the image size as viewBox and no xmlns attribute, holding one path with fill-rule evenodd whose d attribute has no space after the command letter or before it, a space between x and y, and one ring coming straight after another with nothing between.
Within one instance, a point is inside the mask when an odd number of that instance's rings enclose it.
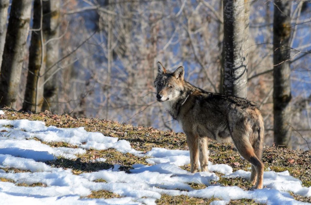
<instances>
[{"instance_id":1,"label":"wolf's tan hind leg, bent, with paw on the snow","mask_svg":"<svg viewBox=\"0 0 311 205\"><path fill-rule=\"evenodd\" d=\"M264 165L262 162L258 159L257 155L254 152L254 149L249 142L248 135L245 132L246 130L237 130L234 129L232 132L232 139L234 142L235 147L238 149L241 156L244 157L245 160L249 161L254 167L254 170L252 169L251 178L256 177L255 171L257 173L257 181L255 185L255 189L262 189L262 181L263 181L263 169Z\"/></svg>"}]
</instances>

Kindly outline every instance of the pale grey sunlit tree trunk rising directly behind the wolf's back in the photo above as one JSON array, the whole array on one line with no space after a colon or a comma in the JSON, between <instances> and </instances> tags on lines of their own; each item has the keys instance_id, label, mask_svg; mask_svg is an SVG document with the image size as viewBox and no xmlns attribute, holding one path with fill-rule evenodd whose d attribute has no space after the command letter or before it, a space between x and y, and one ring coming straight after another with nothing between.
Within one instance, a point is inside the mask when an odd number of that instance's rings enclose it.
<instances>
[{"instance_id":1,"label":"pale grey sunlit tree trunk rising directly behind the wolf's back","mask_svg":"<svg viewBox=\"0 0 311 205\"><path fill-rule=\"evenodd\" d=\"M249 2L224 0L224 80L226 95L247 97Z\"/></svg>"}]
</instances>

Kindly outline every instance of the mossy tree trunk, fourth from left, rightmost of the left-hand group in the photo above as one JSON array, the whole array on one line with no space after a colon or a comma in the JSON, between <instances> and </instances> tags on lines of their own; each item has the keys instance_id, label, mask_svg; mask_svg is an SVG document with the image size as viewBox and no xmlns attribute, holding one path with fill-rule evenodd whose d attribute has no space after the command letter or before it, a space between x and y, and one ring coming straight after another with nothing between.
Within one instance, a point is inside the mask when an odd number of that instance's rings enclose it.
<instances>
[{"instance_id":1,"label":"mossy tree trunk, fourth from left, rightmost of the left-hand group","mask_svg":"<svg viewBox=\"0 0 311 205\"><path fill-rule=\"evenodd\" d=\"M60 1L45 1L43 2L43 31L44 39L48 42L46 45L46 68L49 69L59 59L59 24L60 24ZM58 79L57 66L49 69L44 76L46 81L44 84L44 102L42 110L50 110L51 112L58 111Z\"/></svg>"}]
</instances>

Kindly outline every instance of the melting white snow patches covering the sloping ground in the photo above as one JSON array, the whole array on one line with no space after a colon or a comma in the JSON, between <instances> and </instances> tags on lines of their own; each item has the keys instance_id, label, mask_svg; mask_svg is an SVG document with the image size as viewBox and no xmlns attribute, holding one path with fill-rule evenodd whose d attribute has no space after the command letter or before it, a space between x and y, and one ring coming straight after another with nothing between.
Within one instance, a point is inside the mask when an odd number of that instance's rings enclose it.
<instances>
[{"instance_id":1,"label":"melting white snow patches covering the sloping ground","mask_svg":"<svg viewBox=\"0 0 311 205\"><path fill-rule=\"evenodd\" d=\"M4 113L0 110L0 114ZM49 147L34 140L34 137L45 142L68 142L79 148ZM90 148L98 150L115 148L122 153L148 156L146 161L152 165L133 165L134 169L130 170L131 173L119 171L119 165L114 165L113 169L74 175L70 169L54 168L43 162L58 156L75 159L77 155L83 154L85 149ZM104 160L100 159L100 161ZM189 164L189 151L153 148L143 154L132 149L126 140L87 132L84 128L46 127L44 122L26 119L0 120L0 167L31 171L6 173L0 169L0 177L12 179L16 184L46 185L25 187L0 181L1 204L154 204L161 194L221 199L212 202L213 204L226 204L230 199L241 198L254 199L258 203L267 204L303 204L296 201L288 192L311 197L311 187L303 187L301 181L290 176L288 171L265 172L263 185L267 188L245 191L236 186L224 187L212 185L210 182L219 180L213 171L223 173L225 177L246 179L250 176L249 171L238 170L232 173L229 165L210 163L210 172L192 174L179 167L186 164ZM96 179L104 179L106 182L94 182ZM207 188L194 190L188 183L205 184ZM81 198L89 195L93 190L102 189L123 197Z\"/></svg>"}]
</instances>

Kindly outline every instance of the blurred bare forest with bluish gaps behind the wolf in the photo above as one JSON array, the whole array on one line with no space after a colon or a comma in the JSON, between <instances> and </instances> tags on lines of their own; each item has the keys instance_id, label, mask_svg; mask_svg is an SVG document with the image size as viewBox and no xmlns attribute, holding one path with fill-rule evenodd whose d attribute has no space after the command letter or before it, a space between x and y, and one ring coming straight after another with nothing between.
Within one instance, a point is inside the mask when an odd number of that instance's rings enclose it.
<instances>
[{"instance_id":1,"label":"blurred bare forest with bluish gaps behind the wolf","mask_svg":"<svg viewBox=\"0 0 311 205\"><path fill-rule=\"evenodd\" d=\"M182 65L185 80L206 91L222 92L226 29L223 1L15 2L20 2L16 9L24 9L21 19L25 21L20 27L10 27L9 23L10 15L12 21L18 19L14 17L18 15L13 11L14 0L0 3L1 86L5 83L18 86L16 99L8 107L111 119L180 132L177 121L156 102L153 82L157 61L171 70ZM269 146L273 144L274 133L274 9L274 1L249 1L249 35L245 43L247 99L258 103L262 110ZM291 86L288 126L292 147L309 149L311 2L290 2L288 17L290 40L286 48L290 57L286 63L290 66ZM14 57L15 64L12 58L6 57L10 46L4 46L14 38L21 41L19 50L23 51ZM14 68L21 65L21 72L11 75L14 79L3 74L7 63Z\"/></svg>"}]
</instances>

